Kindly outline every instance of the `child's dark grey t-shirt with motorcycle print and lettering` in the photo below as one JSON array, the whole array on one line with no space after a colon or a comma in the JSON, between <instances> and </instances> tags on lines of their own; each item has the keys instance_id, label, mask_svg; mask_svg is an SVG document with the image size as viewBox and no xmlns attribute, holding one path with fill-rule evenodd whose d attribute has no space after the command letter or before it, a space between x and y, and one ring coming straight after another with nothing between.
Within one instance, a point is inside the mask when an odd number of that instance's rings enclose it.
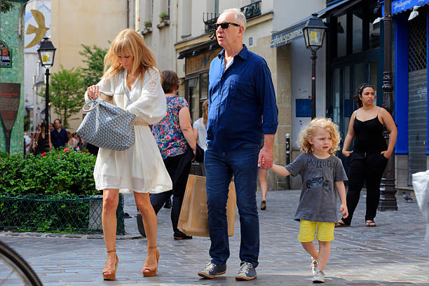
<instances>
[{"instance_id":1,"label":"child's dark grey t-shirt with motorcycle print and lettering","mask_svg":"<svg viewBox=\"0 0 429 286\"><path fill-rule=\"evenodd\" d=\"M347 180L343 163L336 156L316 158L303 153L285 167L292 176L301 175L302 190L294 219L310 222L337 222L334 182Z\"/></svg>"}]
</instances>

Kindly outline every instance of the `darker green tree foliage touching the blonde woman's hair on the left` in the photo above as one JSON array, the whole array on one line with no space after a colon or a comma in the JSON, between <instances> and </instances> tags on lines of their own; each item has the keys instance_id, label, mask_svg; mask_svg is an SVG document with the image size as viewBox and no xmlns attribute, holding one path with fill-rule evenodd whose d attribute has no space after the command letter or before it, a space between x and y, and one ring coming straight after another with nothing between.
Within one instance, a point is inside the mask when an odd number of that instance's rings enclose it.
<instances>
[{"instance_id":1,"label":"darker green tree foliage touching the blonde woman's hair on the left","mask_svg":"<svg viewBox=\"0 0 429 286\"><path fill-rule=\"evenodd\" d=\"M97 84L103 75L104 56L107 50L98 46L82 45L83 50L79 52L85 59L82 60L87 67L82 68L83 85L88 87Z\"/></svg>"}]
</instances>

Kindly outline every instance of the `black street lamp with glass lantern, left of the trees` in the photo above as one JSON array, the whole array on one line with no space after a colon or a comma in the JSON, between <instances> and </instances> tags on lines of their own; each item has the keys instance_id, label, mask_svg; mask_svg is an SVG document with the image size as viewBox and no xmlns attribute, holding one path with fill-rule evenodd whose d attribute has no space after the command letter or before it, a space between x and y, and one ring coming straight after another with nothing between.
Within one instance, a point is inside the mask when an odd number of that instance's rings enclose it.
<instances>
[{"instance_id":1,"label":"black street lamp with glass lantern, left of the trees","mask_svg":"<svg viewBox=\"0 0 429 286\"><path fill-rule=\"evenodd\" d=\"M53 60L55 57L56 48L53 46L52 42L48 37L43 38L43 41L40 42L40 47L37 50L39 53L39 59L41 65L45 67L46 75L46 93L45 93L45 146L46 150L49 149L49 69L53 66Z\"/></svg>"}]
</instances>

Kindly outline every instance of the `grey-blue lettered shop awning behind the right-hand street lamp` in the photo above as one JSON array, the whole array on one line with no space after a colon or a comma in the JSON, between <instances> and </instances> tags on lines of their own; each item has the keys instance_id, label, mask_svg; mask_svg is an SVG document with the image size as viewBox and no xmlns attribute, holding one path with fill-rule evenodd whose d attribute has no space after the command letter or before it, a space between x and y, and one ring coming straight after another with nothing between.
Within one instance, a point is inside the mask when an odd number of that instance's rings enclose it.
<instances>
[{"instance_id":1,"label":"grey-blue lettered shop awning behind the right-hand street lamp","mask_svg":"<svg viewBox=\"0 0 429 286\"><path fill-rule=\"evenodd\" d=\"M429 1L429 0L428 0ZM319 18L326 18L329 14L329 12L333 11L336 8L340 8L340 6L345 5L347 2L353 2L355 4L356 1L353 0L343 0L339 1L336 4L333 4L321 11L319 11L318 17ZM301 39L304 34L302 33L302 28L304 25L306 25L306 22L308 19L311 18L311 15L308 15L307 18L295 23L294 25L291 25L290 27L283 29L280 32L275 32L271 36L271 48L276 48L278 46L286 45L287 43L290 43L294 40Z\"/></svg>"}]
</instances>

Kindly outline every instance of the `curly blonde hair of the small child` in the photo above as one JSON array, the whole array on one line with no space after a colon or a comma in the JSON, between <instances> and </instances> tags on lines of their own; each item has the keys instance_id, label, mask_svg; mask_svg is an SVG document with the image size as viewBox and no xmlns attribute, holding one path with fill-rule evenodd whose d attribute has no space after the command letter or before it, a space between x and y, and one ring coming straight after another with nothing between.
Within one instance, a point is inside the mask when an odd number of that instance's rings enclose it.
<instances>
[{"instance_id":1,"label":"curly blonde hair of the small child","mask_svg":"<svg viewBox=\"0 0 429 286\"><path fill-rule=\"evenodd\" d=\"M301 147L301 151L304 153L311 153L313 151L313 145L308 142L308 138L312 138L316 128L323 128L329 132L332 138L332 148L328 150L329 154L335 155L336 151L339 150L339 142L341 136L339 135L338 125L332 122L331 118L314 118L306 128L301 130L298 135L298 145Z\"/></svg>"}]
</instances>

